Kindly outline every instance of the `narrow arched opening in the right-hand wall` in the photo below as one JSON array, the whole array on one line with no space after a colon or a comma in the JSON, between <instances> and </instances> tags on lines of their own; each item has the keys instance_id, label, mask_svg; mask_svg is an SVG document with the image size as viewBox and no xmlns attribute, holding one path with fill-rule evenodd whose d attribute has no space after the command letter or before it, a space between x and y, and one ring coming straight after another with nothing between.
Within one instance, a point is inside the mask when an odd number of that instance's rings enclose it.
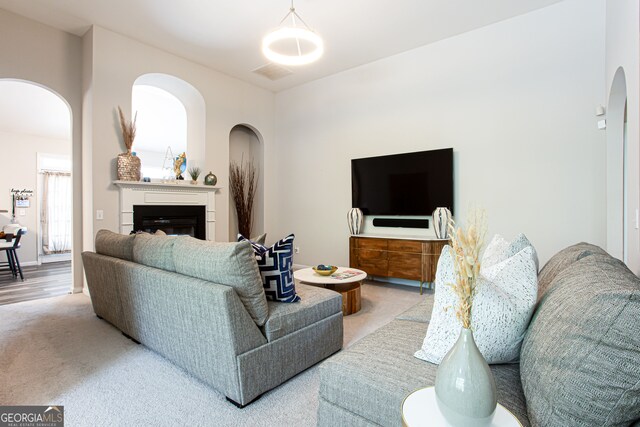
<instances>
[{"instance_id":1,"label":"narrow arched opening in the right-hand wall","mask_svg":"<svg viewBox=\"0 0 640 427\"><path fill-rule=\"evenodd\" d=\"M627 262L628 258L628 174L627 83L618 68L609 92L607 107L607 251Z\"/></svg>"}]
</instances>

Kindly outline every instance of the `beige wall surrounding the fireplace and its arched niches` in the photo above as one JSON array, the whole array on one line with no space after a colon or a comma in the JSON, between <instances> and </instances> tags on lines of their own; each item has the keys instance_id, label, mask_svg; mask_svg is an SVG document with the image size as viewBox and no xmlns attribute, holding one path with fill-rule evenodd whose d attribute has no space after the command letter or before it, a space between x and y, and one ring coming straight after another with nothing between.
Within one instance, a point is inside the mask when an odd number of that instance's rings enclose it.
<instances>
[{"instance_id":1,"label":"beige wall surrounding the fireplace and its arched niches","mask_svg":"<svg viewBox=\"0 0 640 427\"><path fill-rule=\"evenodd\" d=\"M115 161L124 151L116 108L122 106L130 117L131 87L139 76L164 73L193 85L206 103L206 158L203 170L218 176L222 187L216 194L216 236L228 236L228 164L229 132L236 124L247 123L258 129L265 145L273 135L274 95L201 65L152 48L122 35L94 26L85 36L85 54L90 50L91 71L84 86L90 90L91 169L93 173L92 214L104 211L104 220L93 220L91 236L101 228L117 230L118 191ZM174 153L175 154L175 153Z\"/></svg>"}]
</instances>

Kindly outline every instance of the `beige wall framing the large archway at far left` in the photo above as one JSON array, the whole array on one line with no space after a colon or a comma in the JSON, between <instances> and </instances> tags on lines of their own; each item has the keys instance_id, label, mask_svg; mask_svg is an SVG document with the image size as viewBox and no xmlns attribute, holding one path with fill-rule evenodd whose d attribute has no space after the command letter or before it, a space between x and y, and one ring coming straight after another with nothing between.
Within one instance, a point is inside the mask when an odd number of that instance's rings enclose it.
<instances>
[{"instance_id":1,"label":"beige wall framing the large archway at far left","mask_svg":"<svg viewBox=\"0 0 640 427\"><path fill-rule=\"evenodd\" d=\"M35 82L60 95L71 108L73 150L73 283L82 288L82 42L0 9L0 78ZM4 148L4 147L3 147Z\"/></svg>"}]
</instances>

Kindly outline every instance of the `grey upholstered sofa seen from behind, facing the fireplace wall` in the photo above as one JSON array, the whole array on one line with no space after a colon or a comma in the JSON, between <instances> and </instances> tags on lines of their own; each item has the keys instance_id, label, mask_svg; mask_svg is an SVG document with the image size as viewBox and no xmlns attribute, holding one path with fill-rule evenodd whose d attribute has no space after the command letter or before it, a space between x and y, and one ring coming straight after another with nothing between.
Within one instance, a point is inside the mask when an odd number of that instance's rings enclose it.
<instances>
[{"instance_id":1,"label":"grey upholstered sofa seen from behind, facing the fireplace wall","mask_svg":"<svg viewBox=\"0 0 640 427\"><path fill-rule=\"evenodd\" d=\"M248 242L101 230L82 259L95 313L244 406L342 347L341 298L267 301Z\"/></svg>"}]
</instances>

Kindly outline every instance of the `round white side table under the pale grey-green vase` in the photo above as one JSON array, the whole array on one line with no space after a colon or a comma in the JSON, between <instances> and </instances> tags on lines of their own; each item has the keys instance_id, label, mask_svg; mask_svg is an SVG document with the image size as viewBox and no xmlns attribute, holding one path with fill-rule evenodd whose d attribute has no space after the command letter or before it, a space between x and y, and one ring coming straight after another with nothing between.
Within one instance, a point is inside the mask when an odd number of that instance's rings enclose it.
<instances>
[{"instance_id":1,"label":"round white side table under the pale grey-green vase","mask_svg":"<svg viewBox=\"0 0 640 427\"><path fill-rule=\"evenodd\" d=\"M450 427L436 403L435 387L421 388L402 402L404 427ZM507 408L498 403L491 427L522 427L520 421Z\"/></svg>"}]
</instances>

